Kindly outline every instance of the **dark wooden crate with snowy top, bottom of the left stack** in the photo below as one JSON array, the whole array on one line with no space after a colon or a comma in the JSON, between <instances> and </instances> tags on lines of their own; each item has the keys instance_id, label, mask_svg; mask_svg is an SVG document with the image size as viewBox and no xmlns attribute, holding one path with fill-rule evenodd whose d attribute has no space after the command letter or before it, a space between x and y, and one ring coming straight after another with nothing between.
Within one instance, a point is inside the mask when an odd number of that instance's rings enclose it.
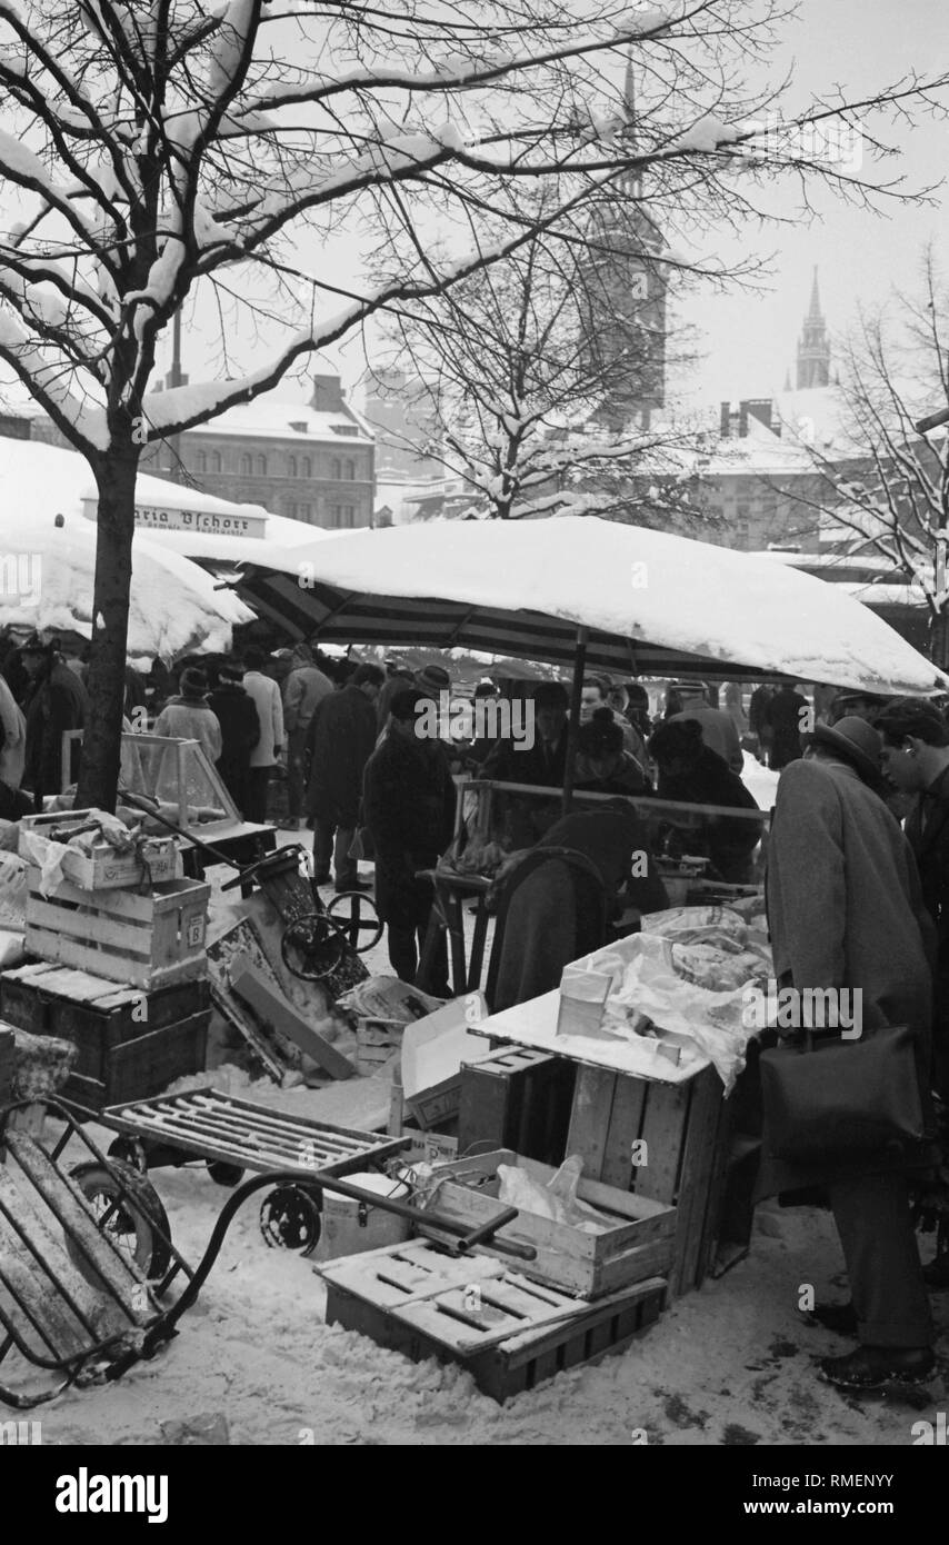
<instances>
[{"instance_id":1,"label":"dark wooden crate with snowy top, bottom of the left stack","mask_svg":"<svg viewBox=\"0 0 949 1545\"><path fill-rule=\"evenodd\" d=\"M73 1041L79 1055L63 1094L99 1111L204 1071L210 989L192 981L142 993L40 961L0 973L0 1015Z\"/></svg>"}]
</instances>

